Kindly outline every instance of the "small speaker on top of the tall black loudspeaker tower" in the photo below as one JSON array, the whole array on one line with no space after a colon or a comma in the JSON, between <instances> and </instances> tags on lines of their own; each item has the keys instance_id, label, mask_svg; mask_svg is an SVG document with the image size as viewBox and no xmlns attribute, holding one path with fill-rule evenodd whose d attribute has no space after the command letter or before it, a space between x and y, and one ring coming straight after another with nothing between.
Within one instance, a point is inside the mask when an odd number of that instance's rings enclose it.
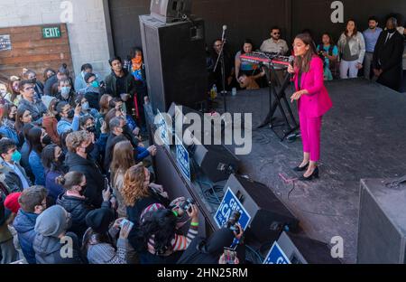
<instances>
[{"instance_id":1,"label":"small speaker on top of the tall black loudspeaker tower","mask_svg":"<svg viewBox=\"0 0 406 282\"><path fill-rule=\"evenodd\" d=\"M152 0L151 15L164 23L178 22L191 13L191 0Z\"/></svg>"}]
</instances>

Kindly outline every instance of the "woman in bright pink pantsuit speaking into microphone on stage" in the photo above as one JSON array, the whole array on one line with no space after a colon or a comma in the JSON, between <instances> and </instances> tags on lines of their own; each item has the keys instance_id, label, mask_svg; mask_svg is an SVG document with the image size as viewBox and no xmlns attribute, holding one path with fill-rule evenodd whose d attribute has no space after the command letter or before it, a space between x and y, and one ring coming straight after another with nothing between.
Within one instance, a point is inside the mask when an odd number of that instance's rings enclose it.
<instances>
[{"instance_id":1,"label":"woman in bright pink pantsuit speaking into microphone on stage","mask_svg":"<svg viewBox=\"0 0 406 282\"><path fill-rule=\"evenodd\" d=\"M294 74L296 92L291 101L298 101L300 132L303 142L303 161L294 170L306 171L300 180L318 178L320 158L321 118L333 106L324 86L323 61L314 50L309 34L299 34L293 42L294 67L288 69Z\"/></svg>"}]
</instances>

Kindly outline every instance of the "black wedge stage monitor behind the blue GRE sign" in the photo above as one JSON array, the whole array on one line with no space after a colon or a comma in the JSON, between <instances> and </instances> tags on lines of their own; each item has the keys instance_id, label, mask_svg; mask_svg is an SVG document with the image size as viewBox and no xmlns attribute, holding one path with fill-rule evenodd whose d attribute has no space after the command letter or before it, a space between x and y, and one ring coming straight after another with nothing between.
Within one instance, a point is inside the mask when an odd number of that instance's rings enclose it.
<instances>
[{"instance_id":1,"label":"black wedge stage monitor behind the blue GRE sign","mask_svg":"<svg viewBox=\"0 0 406 282\"><path fill-rule=\"evenodd\" d=\"M225 192L228 188L251 215L247 239L251 234L260 242L274 241L283 229L297 230L299 221L263 183L232 174L224 188Z\"/></svg>"}]
</instances>

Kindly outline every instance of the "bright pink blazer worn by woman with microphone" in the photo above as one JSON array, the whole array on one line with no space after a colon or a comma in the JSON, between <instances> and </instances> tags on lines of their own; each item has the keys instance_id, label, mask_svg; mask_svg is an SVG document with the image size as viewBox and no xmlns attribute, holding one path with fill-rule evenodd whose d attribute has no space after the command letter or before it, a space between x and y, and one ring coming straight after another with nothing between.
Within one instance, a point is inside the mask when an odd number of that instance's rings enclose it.
<instances>
[{"instance_id":1,"label":"bright pink blazer worn by woman with microphone","mask_svg":"<svg viewBox=\"0 0 406 282\"><path fill-rule=\"evenodd\" d=\"M323 61L318 56L313 56L310 61L308 72L301 74L301 89L306 89L309 94L302 95L299 99L299 114L307 118L318 118L333 107L333 102L328 96L328 90L324 86ZM296 70L294 82L298 89L299 70Z\"/></svg>"}]
</instances>

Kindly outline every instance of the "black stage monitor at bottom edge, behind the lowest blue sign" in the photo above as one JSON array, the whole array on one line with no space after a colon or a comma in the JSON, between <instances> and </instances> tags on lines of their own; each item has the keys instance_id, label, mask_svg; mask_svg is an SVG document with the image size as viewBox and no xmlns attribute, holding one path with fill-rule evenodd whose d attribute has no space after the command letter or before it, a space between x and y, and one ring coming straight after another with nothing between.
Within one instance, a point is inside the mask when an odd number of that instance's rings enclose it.
<instances>
[{"instance_id":1,"label":"black stage monitor at bottom edge, behind the lowest blue sign","mask_svg":"<svg viewBox=\"0 0 406 282\"><path fill-rule=\"evenodd\" d=\"M277 241L292 264L341 264L331 257L328 244L283 231Z\"/></svg>"}]
</instances>

